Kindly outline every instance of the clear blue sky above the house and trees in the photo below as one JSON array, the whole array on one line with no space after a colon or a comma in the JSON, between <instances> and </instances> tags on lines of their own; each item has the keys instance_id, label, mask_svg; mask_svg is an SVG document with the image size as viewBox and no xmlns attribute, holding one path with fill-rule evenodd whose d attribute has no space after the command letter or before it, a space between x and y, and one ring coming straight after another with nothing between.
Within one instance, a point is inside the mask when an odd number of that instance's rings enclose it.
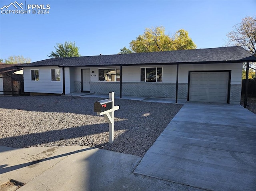
<instances>
[{"instance_id":1,"label":"clear blue sky above the house and trees","mask_svg":"<svg viewBox=\"0 0 256 191\"><path fill-rule=\"evenodd\" d=\"M48 59L56 43L65 41L75 41L82 56L116 54L156 26L170 35L188 31L197 48L222 47L234 25L256 15L256 0L16 1L50 4L49 14L0 14L0 58L23 55L32 62ZM0 8L12 2L0 0Z\"/></svg>"}]
</instances>

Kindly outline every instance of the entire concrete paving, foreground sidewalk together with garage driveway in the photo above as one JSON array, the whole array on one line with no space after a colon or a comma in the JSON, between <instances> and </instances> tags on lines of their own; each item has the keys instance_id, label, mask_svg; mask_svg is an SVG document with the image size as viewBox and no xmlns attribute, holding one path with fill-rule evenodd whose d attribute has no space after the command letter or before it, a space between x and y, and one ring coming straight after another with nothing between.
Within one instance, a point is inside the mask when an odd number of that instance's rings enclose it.
<instances>
[{"instance_id":1,"label":"entire concrete paving, foreground sidewalk together with garage driveway","mask_svg":"<svg viewBox=\"0 0 256 191\"><path fill-rule=\"evenodd\" d=\"M254 191L255 121L240 105L186 102L143 158L86 146L0 146L0 185L14 179L25 183L19 191Z\"/></svg>"}]
</instances>

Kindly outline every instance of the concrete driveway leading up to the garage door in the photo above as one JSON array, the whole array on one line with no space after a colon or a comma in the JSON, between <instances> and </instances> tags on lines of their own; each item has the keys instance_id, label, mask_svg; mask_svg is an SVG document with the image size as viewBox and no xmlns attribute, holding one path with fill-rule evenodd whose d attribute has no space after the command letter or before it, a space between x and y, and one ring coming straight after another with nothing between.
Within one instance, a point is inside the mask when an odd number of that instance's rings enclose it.
<instances>
[{"instance_id":1,"label":"concrete driveway leading up to the garage door","mask_svg":"<svg viewBox=\"0 0 256 191\"><path fill-rule=\"evenodd\" d=\"M212 191L255 191L256 115L240 105L186 102L134 173Z\"/></svg>"}]
</instances>

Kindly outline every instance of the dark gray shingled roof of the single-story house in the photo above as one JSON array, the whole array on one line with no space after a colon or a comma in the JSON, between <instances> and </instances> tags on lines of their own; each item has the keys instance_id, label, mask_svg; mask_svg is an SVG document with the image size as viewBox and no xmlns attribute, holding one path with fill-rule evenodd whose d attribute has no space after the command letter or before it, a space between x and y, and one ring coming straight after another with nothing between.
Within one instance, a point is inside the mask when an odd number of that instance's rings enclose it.
<instances>
[{"instance_id":1,"label":"dark gray shingled roof of the single-story house","mask_svg":"<svg viewBox=\"0 0 256 191\"><path fill-rule=\"evenodd\" d=\"M117 55L98 55L69 58L52 58L23 64L29 66L84 67L113 65L155 65L254 62L256 57L240 46L208 49L192 49L162 52L145 52Z\"/></svg>"}]
</instances>

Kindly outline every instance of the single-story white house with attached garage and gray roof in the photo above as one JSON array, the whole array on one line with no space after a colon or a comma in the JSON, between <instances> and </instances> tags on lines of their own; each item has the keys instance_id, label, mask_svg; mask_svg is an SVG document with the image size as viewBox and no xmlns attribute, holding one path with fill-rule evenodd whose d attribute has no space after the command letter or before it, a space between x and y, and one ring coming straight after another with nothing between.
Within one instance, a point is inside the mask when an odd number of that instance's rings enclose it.
<instances>
[{"instance_id":1,"label":"single-story white house with attached garage and gray roof","mask_svg":"<svg viewBox=\"0 0 256 191\"><path fill-rule=\"evenodd\" d=\"M30 93L90 92L239 104L242 47L52 58L21 65Z\"/></svg>"}]
</instances>

